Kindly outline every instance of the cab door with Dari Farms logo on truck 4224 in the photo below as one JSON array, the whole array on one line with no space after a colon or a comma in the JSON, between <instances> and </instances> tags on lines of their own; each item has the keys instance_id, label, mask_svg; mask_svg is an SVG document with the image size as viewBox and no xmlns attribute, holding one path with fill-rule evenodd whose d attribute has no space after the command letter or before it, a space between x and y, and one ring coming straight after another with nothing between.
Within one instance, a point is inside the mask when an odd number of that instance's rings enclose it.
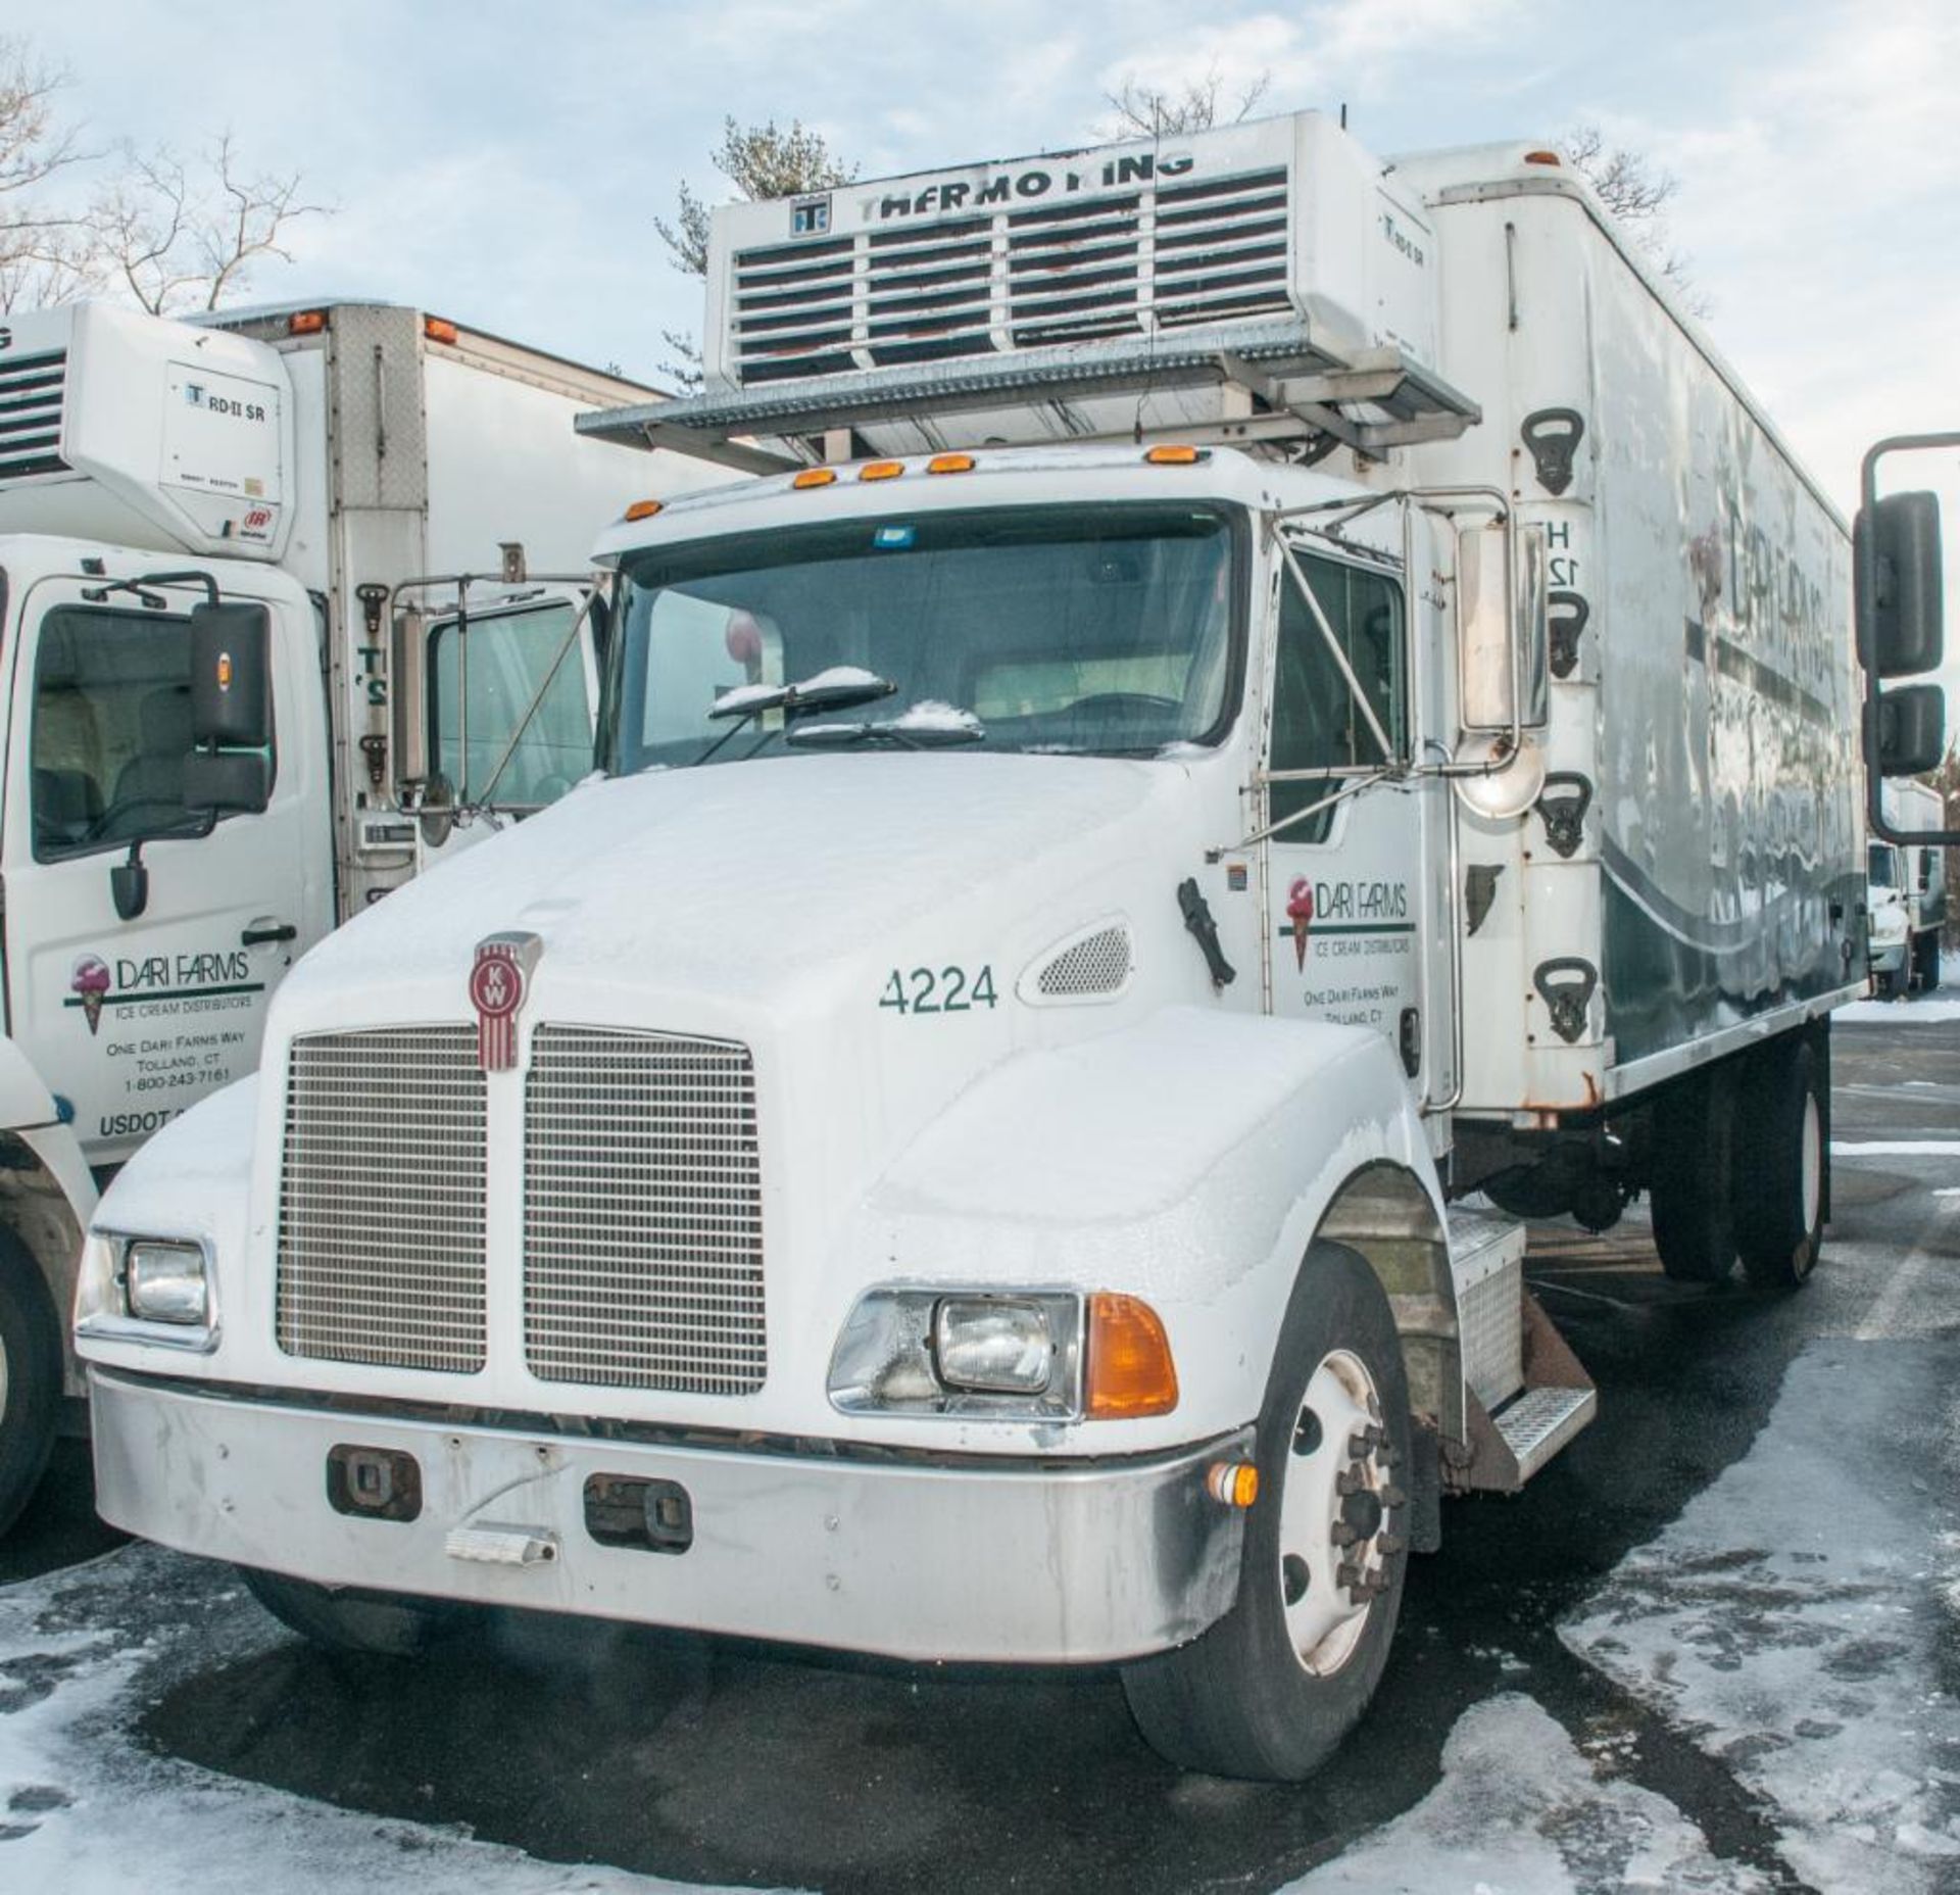
<instances>
[{"instance_id":1,"label":"cab door with Dari Farms logo on truck 4224","mask_svg":"<svg viewBox=\"0 0 1960 1895\"><path fill-rule=\"evenodd\" d=\"M1272 1009L1368 1027L1441 1095L1448 1037L1427 864L1439 817L1415 758L1413 653L1399 564L1284 543L1266 731ZM1435 1017L1433 1017L1435 1015Z\"/></svg>"}]
</instances>

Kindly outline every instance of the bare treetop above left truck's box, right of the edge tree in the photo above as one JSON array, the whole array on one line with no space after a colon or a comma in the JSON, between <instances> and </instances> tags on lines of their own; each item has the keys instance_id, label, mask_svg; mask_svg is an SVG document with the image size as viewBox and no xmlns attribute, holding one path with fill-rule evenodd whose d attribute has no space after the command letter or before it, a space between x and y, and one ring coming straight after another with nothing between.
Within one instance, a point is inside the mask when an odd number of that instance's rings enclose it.
<instances>
[{"instance_id":1,"label":"bare treetop above left truck's box, right of the edge tree","mask_svg":"<svg viewBox=\"0 0 1960 1895\"><path fill-rule=\"evenodd\" d=\"M122 172L88 212L88 231L122 290L151 316L169 316L216 310L261 257L292 263L286 227L327 214L300 198L296 170L243 170L227 131L198 169L167 147L125 145Z\"/></svg>"}]
</instances>

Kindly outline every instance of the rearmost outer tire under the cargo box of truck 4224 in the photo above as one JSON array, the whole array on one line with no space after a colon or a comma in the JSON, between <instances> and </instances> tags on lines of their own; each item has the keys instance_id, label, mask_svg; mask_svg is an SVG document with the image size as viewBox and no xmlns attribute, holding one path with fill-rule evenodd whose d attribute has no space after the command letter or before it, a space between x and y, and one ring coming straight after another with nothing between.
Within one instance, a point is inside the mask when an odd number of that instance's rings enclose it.
<instances>
[{"instance_id":1,"label":"rearmost outer tire under the cargo box of truck 4224","mask_svg":"<svg viewBox=\"0 0 1960 1895\"><path fill-rule=\"evenodd\" d=\"M1735 1235L1758 1289L1795 1289L1823 1250L1829 1207L1829 1099L1815 1035L1764 1046L1742 1082L1742 1168Z\"/></svg>"}]
</instances>

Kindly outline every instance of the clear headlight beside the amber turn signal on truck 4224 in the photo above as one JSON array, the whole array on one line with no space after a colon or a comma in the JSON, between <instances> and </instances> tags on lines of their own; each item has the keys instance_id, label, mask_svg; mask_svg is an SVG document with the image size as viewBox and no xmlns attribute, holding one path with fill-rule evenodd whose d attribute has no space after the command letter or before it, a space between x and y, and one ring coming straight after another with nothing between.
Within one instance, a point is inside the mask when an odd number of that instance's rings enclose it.
<instances>
[{"instance_id":1,"label":"clear headlight beside the amber turn signal on truck 4224","mask_svg":"<svg viewBox=\"0 0 1960 1895\"><path fill-rule=\"evenodd\" d=\"M1072 1289L870 1289L831 1354L847 1415L1082 1413L1082 1297Z\"/></svg>"}]
</instances>

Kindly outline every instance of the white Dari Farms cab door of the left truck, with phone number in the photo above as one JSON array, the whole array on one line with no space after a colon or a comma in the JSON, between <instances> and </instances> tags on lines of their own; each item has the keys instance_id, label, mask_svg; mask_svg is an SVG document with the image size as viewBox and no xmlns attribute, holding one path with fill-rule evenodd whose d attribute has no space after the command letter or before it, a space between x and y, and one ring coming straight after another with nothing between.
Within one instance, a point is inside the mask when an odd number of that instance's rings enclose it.
<instances>
[{"instance_id":1,"label":"white Dari Farms cab door of the left truck, with phone number","mask_svg":"<svg viewBox=\"0 0 1960 1895\"><path fill-rule=\"evenodd\" d=\"M92 1164L259 1062L272 992L331 917L314 629L269 600L274 784L259 815L184 809L202 588L49 576L16 621L0 866L14 1041ZM227 594L235 596L235 594ZM135 849L141 911L112 870Z\"/></svg>"}]
</instances>

